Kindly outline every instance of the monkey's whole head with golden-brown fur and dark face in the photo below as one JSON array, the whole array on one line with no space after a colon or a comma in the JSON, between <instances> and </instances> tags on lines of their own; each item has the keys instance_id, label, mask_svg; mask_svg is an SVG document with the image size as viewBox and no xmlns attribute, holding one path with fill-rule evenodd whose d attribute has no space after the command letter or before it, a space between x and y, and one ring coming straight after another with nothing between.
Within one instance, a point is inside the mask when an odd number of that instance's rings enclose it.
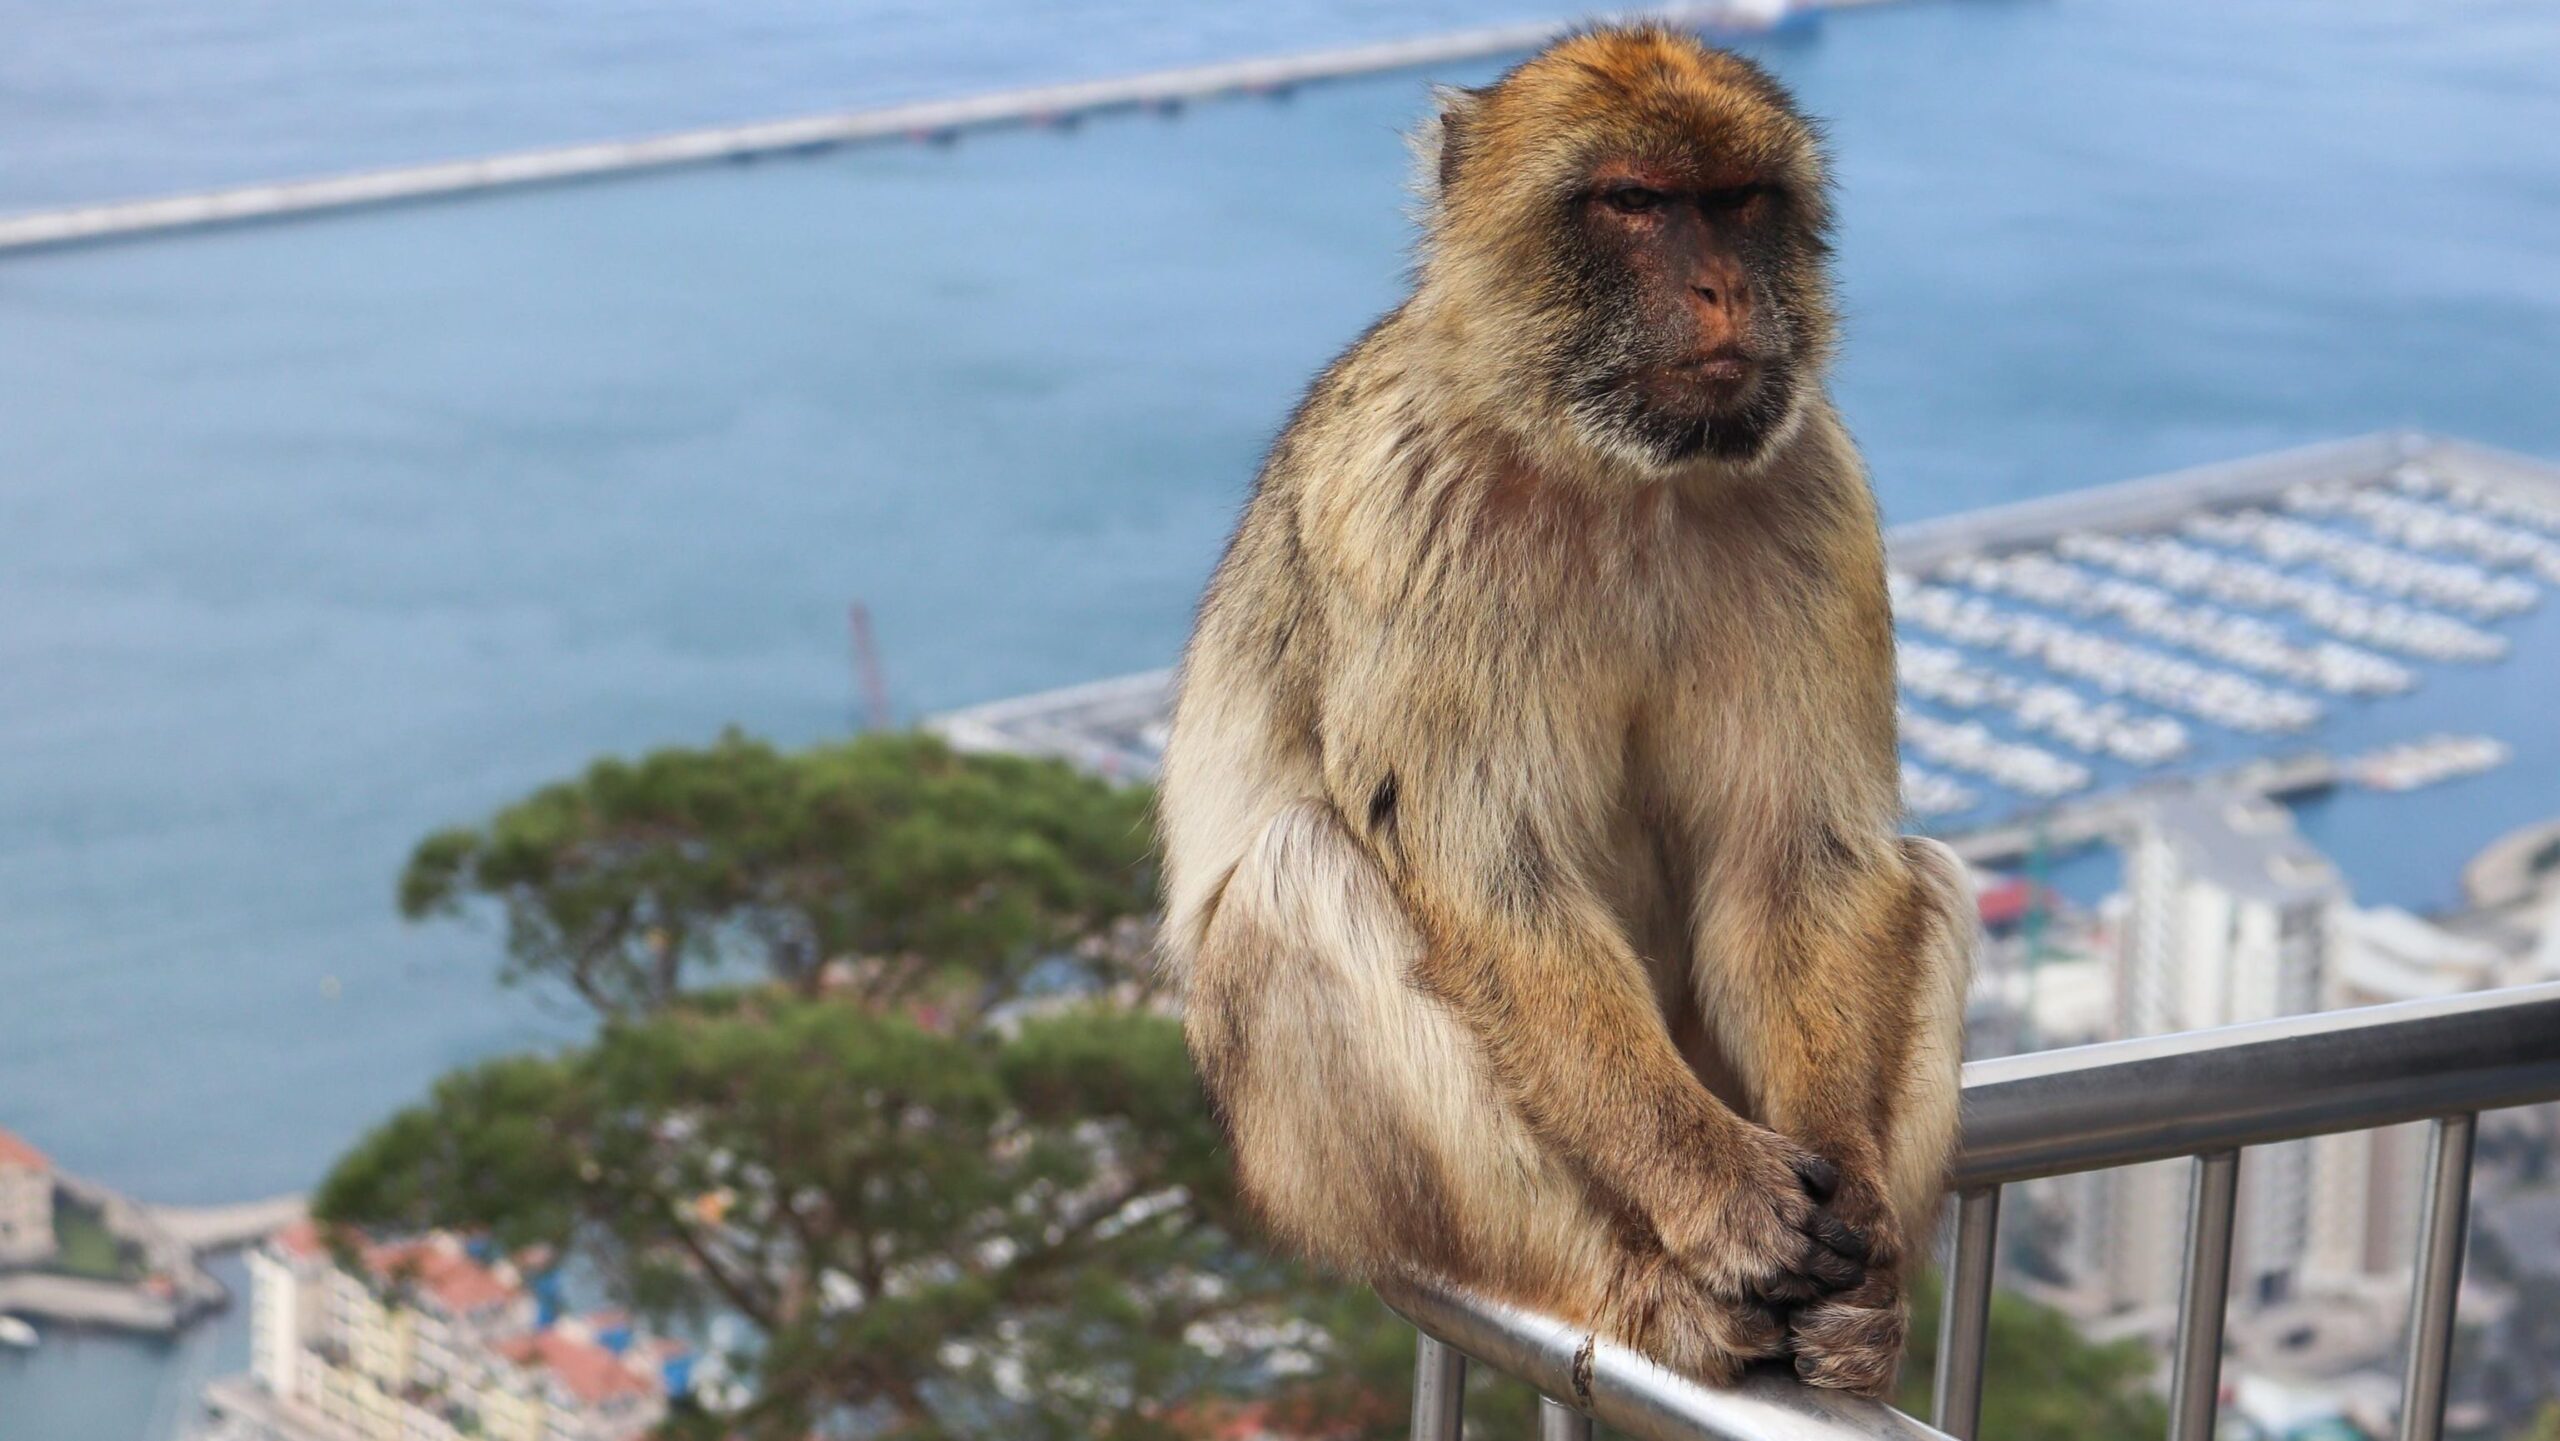
<instances>
[{"instance_id":1,"label":"monkey's whole head with golden-brown fur and dark face","mask_svg":"<svg viewBox=\"0 0 2560 1441\"><path fill-rule=\"evenodd\" d=\"M1833 340L1830 197L1766 72L1600 28L1444 90L1431 131L1418 297L1475 317L1464 363L1513 420L1651 474L1795 427Z\"/></svg>"}]
</instances>

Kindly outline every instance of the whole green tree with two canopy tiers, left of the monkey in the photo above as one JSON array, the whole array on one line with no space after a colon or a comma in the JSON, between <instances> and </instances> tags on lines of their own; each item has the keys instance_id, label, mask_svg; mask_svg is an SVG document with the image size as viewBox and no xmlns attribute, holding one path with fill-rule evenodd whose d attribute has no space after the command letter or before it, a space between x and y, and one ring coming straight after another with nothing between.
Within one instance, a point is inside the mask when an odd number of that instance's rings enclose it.
<instances>
[{"instance_id":1,"label":"whole green tree with two canopy tiers, left of the monkey","mask_svg":"<svg viewBox=\"0 0 2560 1441\"><path fill-rule=\"evenodd\" d=\"M504 978L602 1029L448 1075L315 1211L745 1323L719 1433L1139 1438L1239 1405L1385 1433L1388 1313L1242 1239L1139 962L1147 804L916 735L724 735L428 837L402 911L494 909Z\"/></svg>"}]
</instances>

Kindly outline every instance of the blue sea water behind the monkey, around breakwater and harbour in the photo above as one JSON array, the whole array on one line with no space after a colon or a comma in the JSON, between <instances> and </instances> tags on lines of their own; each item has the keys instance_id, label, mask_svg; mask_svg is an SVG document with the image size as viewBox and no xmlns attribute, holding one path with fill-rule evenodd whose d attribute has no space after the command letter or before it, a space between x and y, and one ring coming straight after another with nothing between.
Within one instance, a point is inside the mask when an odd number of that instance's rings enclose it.
<instances>
[{"instance_id":1,"label":"blue sea water behind the monkey, around breakwater and harbour","mask_svg":"<svg viewBox=\"0 0 2560 1441\"><path fill-rule=\"evenodd\" d=\"M0 205L1513 13L0 0ZM2560 458L2552 10L1915 0L1761 54L1830 125L1892 520L2394 425ZM392 916L407 845L599 750L847 729L855 599L906 714L1160 665L1400 287L1421 79L0 261L0 1126L292 1190L571 1034ZM2560 604L2516 635L2337 722L2519 747L2309 811L2365 896L2560 811ZM156 1441L189 1367L0 1357L0 1441Z\"/></svg>"}]
</instances>

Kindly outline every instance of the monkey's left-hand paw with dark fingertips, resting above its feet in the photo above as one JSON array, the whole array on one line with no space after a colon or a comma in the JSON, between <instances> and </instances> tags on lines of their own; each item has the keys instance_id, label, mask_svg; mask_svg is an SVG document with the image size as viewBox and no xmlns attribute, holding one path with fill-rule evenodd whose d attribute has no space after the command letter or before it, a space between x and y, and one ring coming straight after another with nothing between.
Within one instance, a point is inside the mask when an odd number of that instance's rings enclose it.
<instances>
[{"instance_id":1,"label":"monkey's left-hand paw with dark fingertips, resting above its feet","mask_svg":"<svg viewBox=\"0 0 2560 1441\"><path fill-rule=\"evenodd\" d=\"M1751 1124L1702 1159L1705 1195L1654 1226L1710 1295L1787 1313L1866 1280L1869 1236L1828 1206L1838 1167Z\"/></svg>"}]
</instances>

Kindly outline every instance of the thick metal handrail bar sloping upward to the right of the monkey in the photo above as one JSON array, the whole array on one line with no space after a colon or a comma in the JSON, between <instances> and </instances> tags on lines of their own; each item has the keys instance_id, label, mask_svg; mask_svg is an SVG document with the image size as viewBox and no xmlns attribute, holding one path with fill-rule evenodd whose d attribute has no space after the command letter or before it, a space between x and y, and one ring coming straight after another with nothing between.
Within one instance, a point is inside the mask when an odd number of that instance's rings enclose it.
<instances>
[{"instance_id":1,"label":"thick metal handrail bar sloping upward to the right of the monkey","mask_svg":"<svg viewBox=\"0 0 2560 1441\"><path fill-rule=\"evenodd\" d=\"M2038 1175L2560 1101L2560 983L1964 1067L1976 1190Z\"/></svg>"}]
</instances>

